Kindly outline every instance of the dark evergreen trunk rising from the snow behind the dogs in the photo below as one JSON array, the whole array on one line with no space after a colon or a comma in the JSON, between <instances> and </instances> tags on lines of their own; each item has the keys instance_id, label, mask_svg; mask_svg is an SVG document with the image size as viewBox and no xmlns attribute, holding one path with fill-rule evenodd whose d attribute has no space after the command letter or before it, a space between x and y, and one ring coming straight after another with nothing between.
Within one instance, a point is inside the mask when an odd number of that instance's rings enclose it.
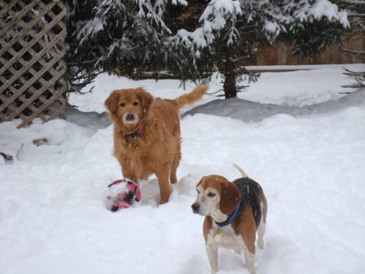
<instances>
[{"instance_id":1,"label":"dark evergreen trunk rising from the snow behind the dogs","mask_svg":"<svg viewBox=\"0 0 365 274\"><path fill-rule=\"evenodd\" d=\"M233 61L234 58L234 47L231 45L227 46L227 55L225 62L225 82L223 84L223 89L225 90L225 99L228 98L236 98L237 90L236 90L236 74L235 74L235 64Z\"/></svg>"}]
</instances>

